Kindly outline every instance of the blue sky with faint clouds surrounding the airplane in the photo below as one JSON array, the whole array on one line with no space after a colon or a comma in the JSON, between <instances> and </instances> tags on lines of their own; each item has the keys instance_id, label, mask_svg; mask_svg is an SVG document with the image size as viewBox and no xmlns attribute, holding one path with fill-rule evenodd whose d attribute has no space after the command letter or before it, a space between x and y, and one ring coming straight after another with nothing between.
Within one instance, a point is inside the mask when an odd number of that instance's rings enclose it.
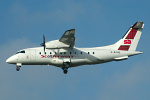
<instances>
[{"instance_id":1,"label":"blue sky with faint clouds surrounding the airplane","mask_svg":"<svg viewBox=\"0 0 150 100\"><path fill-rule=\"evenodd\" d=\"M1 0L0 100L150 100L149 0ZM70 68L7 64L20 49L59 39L75 28L76 47L118 41L131 25L144 21L137 50L120 62Z\"/></svg>"}]
</instances>

